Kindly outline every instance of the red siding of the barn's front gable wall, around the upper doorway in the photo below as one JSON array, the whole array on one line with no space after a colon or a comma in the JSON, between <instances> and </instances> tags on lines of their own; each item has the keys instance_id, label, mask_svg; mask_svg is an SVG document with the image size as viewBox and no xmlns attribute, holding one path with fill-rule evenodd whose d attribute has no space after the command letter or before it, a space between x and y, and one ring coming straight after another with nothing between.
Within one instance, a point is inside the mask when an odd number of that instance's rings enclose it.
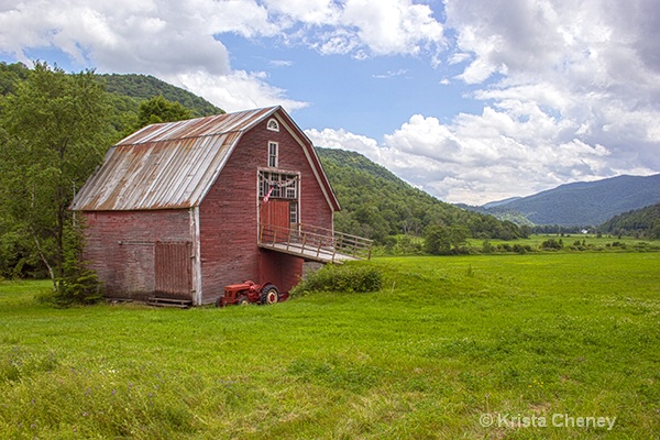
<instances>
[{"instance_id":1,"label":"red siding of the barn's front gable wall, around the upper doorway","mask_svg":"<svg viewBox=\"0 0 660 440\"><path fill-rule=\"evenodd\" d=\"M300 172L300 221L332 228L332 208L305 151L284 125L273 132L266 123L243 135L200 205L204 302L213 301L226 285L246 279L273 282L285 293L301 275L301 258L267 253L257 246L257 169L268 165L268 142L279 145L279 169Z\"/></svg>"}]
</instances>

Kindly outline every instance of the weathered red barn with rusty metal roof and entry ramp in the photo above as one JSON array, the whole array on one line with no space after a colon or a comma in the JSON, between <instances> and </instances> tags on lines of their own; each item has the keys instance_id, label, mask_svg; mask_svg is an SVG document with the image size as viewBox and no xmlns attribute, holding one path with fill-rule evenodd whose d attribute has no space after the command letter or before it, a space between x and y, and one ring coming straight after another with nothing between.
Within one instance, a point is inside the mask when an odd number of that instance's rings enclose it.
<instances>
[{"instance_id":1,"label":"weathered red barn with rusty metal roof and entry ramp","mask_svg":"<svg viewBox=\"0 0 660 440\"><path fill-rule=\"evenodd\" d=\"M282 107L145 127L110 147L70 209L109 298L204 305L248 279L286 293L305 262L371 250L333 230L337 197Z\"/></svg>"}]
</instances>

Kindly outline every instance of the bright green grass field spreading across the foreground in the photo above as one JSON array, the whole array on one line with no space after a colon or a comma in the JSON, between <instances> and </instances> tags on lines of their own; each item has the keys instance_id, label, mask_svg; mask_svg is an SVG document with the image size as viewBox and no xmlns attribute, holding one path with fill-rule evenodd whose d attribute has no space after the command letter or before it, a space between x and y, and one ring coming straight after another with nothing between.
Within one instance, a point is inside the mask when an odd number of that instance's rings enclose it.
<instances>
[{"instance_id":1,"label":"bright green grass field spreading across the foreground","mask_svg":"<svg viewBox=\"0 0 660 440\"><path fill-rule=\"evenodd\" d=\"M272 307L2 283L0 438L660 437L660 253L361 264L382 292Z\"/></svg>"}]
</instances>

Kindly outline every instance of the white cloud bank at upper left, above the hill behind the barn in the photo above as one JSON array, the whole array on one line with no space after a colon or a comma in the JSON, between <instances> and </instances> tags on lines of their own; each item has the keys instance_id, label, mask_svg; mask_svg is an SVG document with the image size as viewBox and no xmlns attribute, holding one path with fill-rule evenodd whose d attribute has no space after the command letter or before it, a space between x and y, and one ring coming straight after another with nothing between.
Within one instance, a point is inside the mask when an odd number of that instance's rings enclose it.
<instances>
[{"instance_id":1,"label":"white cloud bank at upper left, above the hill behind the barn","mask_svg":"<svg viewBox=\"0 0 660 440\"><path fill-rule=\"evenodd\" d=\"M29 64L30 50L55 48L80 68L151 74L227 109L304 102L285 98L262 73L234 72L218 33L273 35L252 1L31 1L0 7L0 52Z\"/></svg>"}]
</instances>

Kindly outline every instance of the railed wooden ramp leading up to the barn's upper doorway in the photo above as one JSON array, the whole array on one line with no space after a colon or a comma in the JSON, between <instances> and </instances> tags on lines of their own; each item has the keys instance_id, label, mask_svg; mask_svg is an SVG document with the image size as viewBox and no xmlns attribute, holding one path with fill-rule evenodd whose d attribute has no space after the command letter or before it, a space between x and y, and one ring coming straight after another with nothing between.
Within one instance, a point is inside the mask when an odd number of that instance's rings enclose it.
<instances>
[{"instance_id":1,"label":"railed wooden ramp leading up to the barn's upper doorway","mask_svg":"<svg viewBox=\"0 0 660 440\"><path fill-rule=\"evenodd\" d=\"M297 224L296 228L263 224L260 227L258 245L306 261L341 264L352 260L371 258L373 242L361 237L304 224Z\"/></svg>"}]
</instances>

